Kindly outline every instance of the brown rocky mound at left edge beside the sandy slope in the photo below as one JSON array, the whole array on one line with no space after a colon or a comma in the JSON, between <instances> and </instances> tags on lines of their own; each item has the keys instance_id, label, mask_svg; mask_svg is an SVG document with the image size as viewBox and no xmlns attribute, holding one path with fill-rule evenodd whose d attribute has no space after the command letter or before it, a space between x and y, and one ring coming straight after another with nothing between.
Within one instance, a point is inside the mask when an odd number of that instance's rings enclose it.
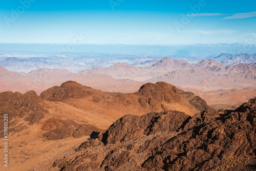
<instances>
[{"instance_id":1,"label":"brown rocky mound at left edge beside the sandy slope","mask_svg":"<svg viewBox=\"0 0 256 171\"><path fill-rule=\"evenodd\" d=\"M29 91L25 94L21 94L19 92L0 93L1 120L4 120L4 114L8 114L9 131L22 131L26 125L15 125L15 120L19 122L20 119L23 119L28 121L28 124L34 124L38 123L42 118L44 118L44 115L48 113L47 109L45 109L40 102L41 99L34 91ZM3 124L4 122L1 122L0 126L2 127ZM4 134L1 134L1 136L3 135Z\"/></svg>"}]
</instances>

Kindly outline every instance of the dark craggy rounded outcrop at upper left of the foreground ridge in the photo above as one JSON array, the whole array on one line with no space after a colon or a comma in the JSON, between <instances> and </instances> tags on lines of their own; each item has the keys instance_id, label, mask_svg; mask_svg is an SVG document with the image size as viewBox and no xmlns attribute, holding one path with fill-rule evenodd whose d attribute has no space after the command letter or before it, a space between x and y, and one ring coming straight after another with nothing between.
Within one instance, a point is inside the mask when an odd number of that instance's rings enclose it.
<instances>
[{"instance_id":1,"label":"dark craggy rounded outcrop at upper left of the foreground ridge","mask_svg":"<svg viewBox=\"0 0 256 171\"><path fill-rule=\"evenodd\" d=\"M141 117L125 115L109 127L102 135L101 141L105 144L113 144L130 140L139 134L152 135L158 132L176 131L187 118L188 115L177 111L148 113Z\"/></svg>"}]
</instances>

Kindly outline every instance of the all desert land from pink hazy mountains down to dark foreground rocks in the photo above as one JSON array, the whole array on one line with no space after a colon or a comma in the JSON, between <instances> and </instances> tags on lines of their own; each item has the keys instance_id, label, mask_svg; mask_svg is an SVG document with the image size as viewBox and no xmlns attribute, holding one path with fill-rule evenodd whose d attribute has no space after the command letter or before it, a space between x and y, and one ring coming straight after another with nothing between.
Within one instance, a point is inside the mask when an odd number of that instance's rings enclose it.
<instances>
[{"instance_id":1,"label":"all desert land from pink hazy mountains down to dark foreground rocks","mask_svg":"<svg viewBox=\"0 0 256 171\"><path fill-rule=\"evenodd\" d=\"M255 71L168 57L76 73L0 67L8 170L254 169Z\"/></svg>"}]
</instances>

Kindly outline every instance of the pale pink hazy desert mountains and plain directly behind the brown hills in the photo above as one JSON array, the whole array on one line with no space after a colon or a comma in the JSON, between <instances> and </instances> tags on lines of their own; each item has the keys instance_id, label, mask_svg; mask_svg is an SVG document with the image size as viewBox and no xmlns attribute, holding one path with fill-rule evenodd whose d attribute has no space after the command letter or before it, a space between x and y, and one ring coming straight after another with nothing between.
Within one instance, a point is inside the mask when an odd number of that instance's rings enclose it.
<instances>
[{"instance_id":1,"label":"pale pink hazy desert mountains and plain directly behind the brown hills","mask_svg":"<svg viewBox=\"0 0 256 171\"><path fill-rule=\"evenodd\" d=\"M73 80L106 92L134 93L146 82L164 81L202 97L216 109L234 109L256 96L256 65L224 66L214 60L196 65L165 57L148 67L116 63L76 73L66 69L37 69L29 73L10 72L0 67L0 92L34 90L38 95L53 86ZM103 83L102 83L103 82ZM224 104L224 105L223 105Z\"/></svg>"}]
</instances>

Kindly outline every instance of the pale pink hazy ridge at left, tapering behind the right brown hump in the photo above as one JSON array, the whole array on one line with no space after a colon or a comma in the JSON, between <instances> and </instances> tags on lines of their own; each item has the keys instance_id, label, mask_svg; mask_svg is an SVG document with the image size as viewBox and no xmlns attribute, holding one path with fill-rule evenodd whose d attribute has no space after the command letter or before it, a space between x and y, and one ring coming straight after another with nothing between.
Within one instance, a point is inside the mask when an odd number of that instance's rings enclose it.
<instances>
[{"instance_id":1,"label":"pale pink hazy ridge at left, tapering behind the right brown hump","mask_svg":"<svg viewBox=\"0 0 256 171\"><path fill-rule=\"evenodd\" d=\"M79 81L109 92L134 92L143 82L131 79L115 79L106 74L72 73L66 69L37 69L29 73L11 72L0 66L0 92L34 90L40 94L45 89L61 84L63 81ZM103 82L103 83L102 83Z\"/></svg>"}]
</instances>

